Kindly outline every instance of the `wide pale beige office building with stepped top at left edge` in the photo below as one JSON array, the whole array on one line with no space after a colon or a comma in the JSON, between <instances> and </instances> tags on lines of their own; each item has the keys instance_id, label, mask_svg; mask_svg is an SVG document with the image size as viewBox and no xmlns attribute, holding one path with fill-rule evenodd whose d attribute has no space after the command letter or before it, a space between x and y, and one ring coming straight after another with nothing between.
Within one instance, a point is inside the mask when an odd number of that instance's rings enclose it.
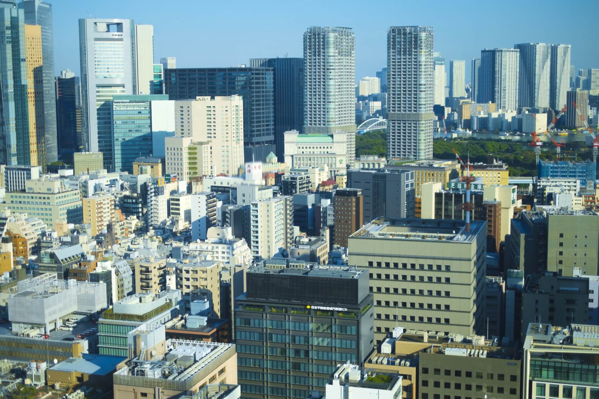
<instances>
[{"instance_id":1,"label":"wide pale beige office building with stepped top at left edge","mask_svg":"<svg viewBox=\"0 0 599 399\"><path fill-rule=\"evenodd\" d=\"M10 209L13 213L26 213L43 220L52 228L59 220L83 223L83 205L79 190L70 190L59 179L43 176L25 181L25 193L6 193L0 203L0 212Z\"/></svg>"}]
</instances>

